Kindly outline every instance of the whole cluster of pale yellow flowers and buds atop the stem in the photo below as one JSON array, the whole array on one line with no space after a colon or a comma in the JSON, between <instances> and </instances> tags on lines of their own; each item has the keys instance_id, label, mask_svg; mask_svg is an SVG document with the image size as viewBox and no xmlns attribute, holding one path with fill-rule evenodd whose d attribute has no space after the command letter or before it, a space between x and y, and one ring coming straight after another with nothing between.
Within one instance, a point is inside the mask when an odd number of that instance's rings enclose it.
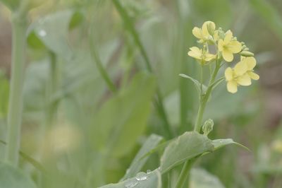
<instances>
[{"instance_id":1,"label":"whole cluster of pale yellow flowers and buds atop the stem","mask_svg":"<svg viewBox=\"0 0 282 188\"><path fill-rule=\"evenodd\" d=\"M224 32L221 28L216 29L214 22L206 21L202 28L193 28L192 34L197 37L202 49L191 47L188 55L195 58L201 66L213 61L221 66L221 61L231 62L234 54L240 54L240 61L225 71L228 92L236 93L238 86L250 86L252 80L259 79L253 71L257 64L254 54L249 52L244 42L238 42L237 38L233 37L231 30ZM209 46L215 47L214 54L209 52Z\"/></svg>"}]
</instances>

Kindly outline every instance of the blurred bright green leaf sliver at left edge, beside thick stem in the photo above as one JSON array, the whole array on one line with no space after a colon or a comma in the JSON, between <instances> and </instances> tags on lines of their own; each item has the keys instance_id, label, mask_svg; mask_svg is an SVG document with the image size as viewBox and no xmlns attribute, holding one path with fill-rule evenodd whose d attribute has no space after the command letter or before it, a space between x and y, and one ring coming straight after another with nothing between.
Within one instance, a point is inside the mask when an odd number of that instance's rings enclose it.
<instances>
[{"instance_id":1,"label":"blurred bright green leaf sliver at left edge, beside thick stem","mask_svg":"<svg viewBox=\"0 0 282 188\"><path fill-rule=\"evenodd\" d=\"M8 93L8 80L4 77L4 74L0 72L0 117L6 117L8 112Z\"/></svg>"}]
</instances>

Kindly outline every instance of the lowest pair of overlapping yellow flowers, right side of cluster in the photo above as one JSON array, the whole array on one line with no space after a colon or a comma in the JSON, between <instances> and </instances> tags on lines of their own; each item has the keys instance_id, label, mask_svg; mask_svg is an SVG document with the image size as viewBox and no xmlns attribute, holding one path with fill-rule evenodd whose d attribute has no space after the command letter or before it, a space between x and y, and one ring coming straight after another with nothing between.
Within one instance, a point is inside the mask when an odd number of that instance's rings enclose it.
<instances>
[{"instance_id":1,"label":"lowest pair of overlapping yellow flowers, right side of cluster","mask_svg":"<svg viewBox=\"0 0 282 188\"><path fill-rule=\"evenodd\" d=\"M227 90L230 93L236 93L238 86L250 86L251 79L258 80L259 75L253 71L256 64L254 57L246 57L238 62L233 69L228 67L225 71Z\"/></svg>"}]
</instances>

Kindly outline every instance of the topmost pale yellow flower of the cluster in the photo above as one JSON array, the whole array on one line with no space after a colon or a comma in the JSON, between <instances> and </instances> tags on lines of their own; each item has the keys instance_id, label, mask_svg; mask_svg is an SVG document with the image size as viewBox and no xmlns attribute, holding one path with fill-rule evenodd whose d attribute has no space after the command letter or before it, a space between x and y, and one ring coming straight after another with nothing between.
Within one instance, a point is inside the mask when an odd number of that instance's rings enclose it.
<instances>
[{"instance_id":1,"label":"topmost pale yellow flower of the cluster","mask_svg":"<svg viewBox=\"0 0 282 188\"><path fill-rule=\"evenodd\" d=\"M200 42L206 42L207 40L212 39L212 35L214 34L214 30L216 29L216 25L212 21L206 21L202 25L201 28L193 28L192 34L200 39Z\"/></svg>"}]
</instances>

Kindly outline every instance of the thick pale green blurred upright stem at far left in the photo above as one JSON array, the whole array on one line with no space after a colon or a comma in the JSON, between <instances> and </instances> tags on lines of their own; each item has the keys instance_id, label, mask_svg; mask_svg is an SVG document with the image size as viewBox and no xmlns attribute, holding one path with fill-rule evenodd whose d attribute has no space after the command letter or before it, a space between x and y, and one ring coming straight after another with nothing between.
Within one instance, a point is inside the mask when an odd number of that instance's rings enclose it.
<instances>
[{"instance_id":1,"label":"thick pale green blurred upright stem at far left","mask_svg":"<svg viewBox=\"0 0 282 188\"><path fill-rule=\"evenodd\" d=\"M6 161L11 163L11 165L17 166L23 111L23 76L25 68L27 17L25 13L13 13L12 16L12 67L8 105Z\"/></svg>"}]
</instances>

